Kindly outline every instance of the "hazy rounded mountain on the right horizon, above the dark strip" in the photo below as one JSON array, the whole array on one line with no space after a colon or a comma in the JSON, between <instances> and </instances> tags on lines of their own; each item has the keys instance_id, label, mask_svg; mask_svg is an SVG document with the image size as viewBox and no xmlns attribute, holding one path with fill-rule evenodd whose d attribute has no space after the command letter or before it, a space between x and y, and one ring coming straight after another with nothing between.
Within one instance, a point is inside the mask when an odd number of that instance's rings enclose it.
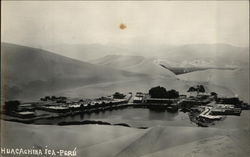
<instances>
[{"instance_id":1,"label":"hazy rounded mountain on the right horizon, above the dark strip","mask_svg":"<svg viewBox=\"0 0 250 157\"><path fill-rule=\"evenodd\" d=\"M168 49L160 56L165 66L172 67L249 66L249 48L227 44L183 45Z\"/></svg>"}]
</instances>

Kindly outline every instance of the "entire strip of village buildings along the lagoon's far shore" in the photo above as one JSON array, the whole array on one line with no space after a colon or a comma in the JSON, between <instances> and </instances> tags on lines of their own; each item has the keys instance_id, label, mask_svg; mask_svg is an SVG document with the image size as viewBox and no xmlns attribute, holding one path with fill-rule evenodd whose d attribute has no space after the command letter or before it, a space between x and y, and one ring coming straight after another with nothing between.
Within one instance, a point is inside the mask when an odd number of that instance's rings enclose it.
<instances>
[{"instance_id":1,"label":"entire strip of village buildings along the lagoon's far shore","mask_svg":"<svg viewBox=\"0 0 250 157\"><path fill-rule=\"evenodd\" d=\"M250 109L249 104L237 97L218 97L211 93L189 92L178 98L152 98L148 93L137 92L133 96L116 92L112 96L97 99L68 99L66 97L46 96L39 102L23 103L16 106L9 115L17 118L32 119L39 116L67 116L77 113L92 113L123 107L140 107L150 110L188 112L190 120L200 126L207 126L225 115L240 115L243 109ZM16 102L14 102L16 103ZM52 116L53 115L53 116Z\"/></svg>"}]
</instances>

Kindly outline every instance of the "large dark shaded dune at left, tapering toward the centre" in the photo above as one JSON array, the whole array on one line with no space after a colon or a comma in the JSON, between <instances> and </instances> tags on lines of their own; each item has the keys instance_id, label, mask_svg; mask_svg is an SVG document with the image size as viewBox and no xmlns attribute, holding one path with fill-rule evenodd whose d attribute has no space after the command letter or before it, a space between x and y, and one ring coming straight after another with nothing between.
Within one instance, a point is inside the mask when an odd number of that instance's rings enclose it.
<instances>
[{"instance_id":1,"label":"large dark shaded dune at left, tapering toward the centre","mask_svg":"<svg viewBox=\"0 0 250 157\"><path fill-rule=\"evenodd\" d=\"M146 77L42 49L1 43L4 98L36 98L58 90Z\"/></svg>"}]
</instances>

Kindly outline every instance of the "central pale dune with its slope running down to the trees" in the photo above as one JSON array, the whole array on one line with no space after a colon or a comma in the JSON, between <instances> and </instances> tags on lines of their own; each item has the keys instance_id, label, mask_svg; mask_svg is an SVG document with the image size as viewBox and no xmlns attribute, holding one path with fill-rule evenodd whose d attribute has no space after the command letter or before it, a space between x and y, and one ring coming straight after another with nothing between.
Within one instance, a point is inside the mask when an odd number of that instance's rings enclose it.
<instances>
[{"instance_id":1,"label":"central pale dune with its slope running down to the trees","mask_svg":"<svg viewBox=\"0 0 250 157\"><path fill-rule=\"evenodd\" d=\"M125 55L108 55L96 60L92 63L105 67L117 68L135 73L143 73L148 77L134 78L128 80L110 81L105 83L97 83L78 88L72 88L58 92L58 95L72 97L98 97L112 94L116 91L120 92L148 92L155 86L163 86L167 90L175 89L181 94L187 94L186 91L191 86L203 84L207 92L217 92L224 96L233 96L232 89L220 84L212 84L210 82L202 82L200 80L190 79L180 80L171 71L160 66L159 60L155 58L145 58L142 56L125 56Z\"/></svg>"}]
</instances>

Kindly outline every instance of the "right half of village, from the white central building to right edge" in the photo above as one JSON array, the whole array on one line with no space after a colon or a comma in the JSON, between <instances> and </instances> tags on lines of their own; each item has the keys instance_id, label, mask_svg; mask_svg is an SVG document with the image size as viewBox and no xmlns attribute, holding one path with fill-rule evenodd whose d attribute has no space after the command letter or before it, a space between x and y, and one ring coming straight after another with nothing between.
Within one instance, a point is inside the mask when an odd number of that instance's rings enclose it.
<instances>
[{"instance_id":1,"label":"right half of village, from the white central building to right edge","mask_svg":"<svg viewBox=\"0 0 250 157\"><path fill-rule=\"evenodd\" d=\"M177 112L179 109L189 112L190 119L200 126L207 126L226 115L238 115L250 105L239 100L238 97L218 97L214 92L189 91L187 95L180 95L175 99L151 98L147 93L136 93L133 103L149 109Z\"/></svg>"}]
</instances>

